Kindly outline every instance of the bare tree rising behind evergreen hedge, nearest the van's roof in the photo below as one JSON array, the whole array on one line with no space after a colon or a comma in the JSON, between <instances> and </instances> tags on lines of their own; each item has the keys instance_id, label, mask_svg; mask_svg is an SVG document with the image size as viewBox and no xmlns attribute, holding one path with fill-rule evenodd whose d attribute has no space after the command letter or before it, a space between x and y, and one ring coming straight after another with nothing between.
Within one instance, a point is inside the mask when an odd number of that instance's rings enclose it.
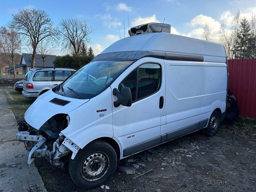
<instances>
[{"instance_id":1,"label":"bare tree rising behind evergreen hedge, nearest the van's roof","mask_svg":"<svg viewBox=\"0 0 256 192\"><path fill-rule=\"evenodd\" d=\"M89 43L92 32L86 21L76 18L63 19L59 23L59 33L64 49L73 49L75 54L79 54L83 43Z\"/></svg>"}]
</instances>

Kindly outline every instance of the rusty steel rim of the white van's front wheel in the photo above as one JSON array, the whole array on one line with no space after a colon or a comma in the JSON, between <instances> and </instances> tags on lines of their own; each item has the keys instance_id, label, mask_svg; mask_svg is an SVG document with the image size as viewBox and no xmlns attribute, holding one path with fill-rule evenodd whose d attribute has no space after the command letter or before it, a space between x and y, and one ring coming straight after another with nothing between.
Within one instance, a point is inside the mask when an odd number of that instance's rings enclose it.
<instances>
[{"instance_id":1,"label":"rusty steel rim of the white van's front wheel","mask_svg":"<svg viewBox=\"0 0 256 192\"><path fill-rule=\"evenodd\" d=\"M101 179L109 169L109 157L103 152L95 152L86 157L81 165L81 174L87 181Z\"/></svg>"}]
</instances>

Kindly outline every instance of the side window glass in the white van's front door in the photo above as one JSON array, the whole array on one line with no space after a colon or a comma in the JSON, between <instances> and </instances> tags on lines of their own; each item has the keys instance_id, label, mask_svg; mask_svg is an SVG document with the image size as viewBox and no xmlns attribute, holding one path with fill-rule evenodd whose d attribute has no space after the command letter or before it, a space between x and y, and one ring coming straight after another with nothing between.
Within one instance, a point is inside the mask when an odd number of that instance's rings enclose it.
<instances>
[{"instance_id":1,"label":"side window glass in the white van's front door","mask_svg":"<svg viewBox=\"0 0 256 192\"><path fill-rule=\"evenodd\" d=\"M161 67L159 64L146 63L134 69L119 84L119 91L129 87L132 92L132 101L137 101L155 93L160 88Z\"/></svg>"}]
</instances>

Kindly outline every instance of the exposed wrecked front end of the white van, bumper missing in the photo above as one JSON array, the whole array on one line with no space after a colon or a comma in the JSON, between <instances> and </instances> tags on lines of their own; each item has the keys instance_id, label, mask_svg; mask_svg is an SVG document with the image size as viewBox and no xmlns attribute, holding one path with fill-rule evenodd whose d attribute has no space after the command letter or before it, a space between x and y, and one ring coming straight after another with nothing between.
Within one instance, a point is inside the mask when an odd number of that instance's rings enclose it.
<instances>
[{"instance_id":1,"label":"exposed wrecked front end of the white van, bumper missing","mask_svg":"<svg viewBox=\"0 0 256 192\"><path fill-rule=\"evenodd\" d=\"M45 157L51 164L61 166L65 160L74 159L79 147L70 139L61 134L61 131L68 126L69 116L57 114L46 121L40 129L35 129L26 121L18 124L16 139L24 142L28 155L28 164L35 158ZM68 158L67 158L68 157Z\"/></svg>"}]
</instances>

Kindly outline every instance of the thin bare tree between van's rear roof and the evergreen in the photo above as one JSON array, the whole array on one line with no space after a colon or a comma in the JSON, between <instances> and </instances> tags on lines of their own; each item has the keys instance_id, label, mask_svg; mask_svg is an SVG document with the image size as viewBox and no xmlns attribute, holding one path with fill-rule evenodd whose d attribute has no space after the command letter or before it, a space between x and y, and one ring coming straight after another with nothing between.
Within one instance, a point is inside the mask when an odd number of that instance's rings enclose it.
<instances>
[{"instance_id":1,"label":"thin bare tree between van's rear roof and the evergreen","mask_svg":"<svg viewBox=\"0 0 256 192\"><path fill-rule=\"evenodd\" d=\"M233 58L233 36L231 33L228 33L228 30L226 29L226 26L224 23L221 24L220 30L219 30L219 39L221 43L224 45L224 48L226 50L227 58L231 59Z\"/></svg>"}]
</instances>

